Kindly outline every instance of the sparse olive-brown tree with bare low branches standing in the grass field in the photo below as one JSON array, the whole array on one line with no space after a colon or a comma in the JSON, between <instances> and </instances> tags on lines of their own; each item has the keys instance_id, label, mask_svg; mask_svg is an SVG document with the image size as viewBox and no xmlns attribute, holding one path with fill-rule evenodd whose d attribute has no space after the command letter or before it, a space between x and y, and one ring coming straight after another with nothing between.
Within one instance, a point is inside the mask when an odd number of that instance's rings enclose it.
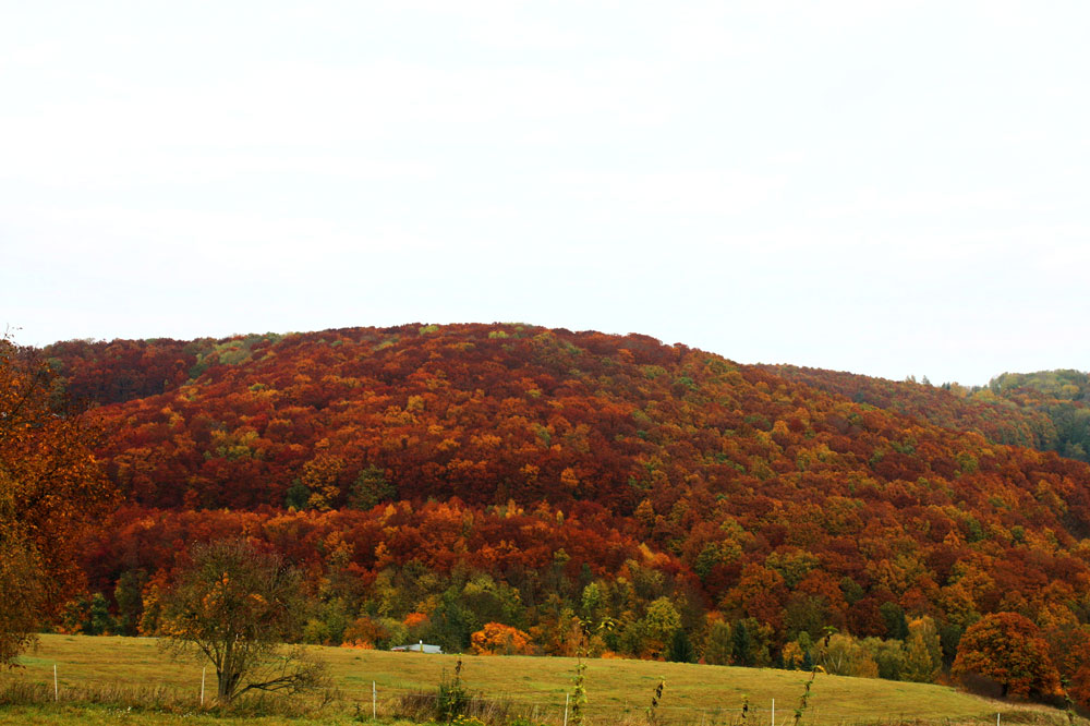
<instances>
[{"instance_id":1,"label":"sparse olive-brown tree with bare low branches standing in the grass field","mask_svg":"<svg viewBox=\"0 0 1090 726\"><path fill-rule=\"evenodd\" d=\"M204 654L221 702L246 691L298 693L326 685L325 667L283 645L304 613L302 579L281 557L242 540L201 545L165 598L168 650Z\"/></svg>"}]
</instances>

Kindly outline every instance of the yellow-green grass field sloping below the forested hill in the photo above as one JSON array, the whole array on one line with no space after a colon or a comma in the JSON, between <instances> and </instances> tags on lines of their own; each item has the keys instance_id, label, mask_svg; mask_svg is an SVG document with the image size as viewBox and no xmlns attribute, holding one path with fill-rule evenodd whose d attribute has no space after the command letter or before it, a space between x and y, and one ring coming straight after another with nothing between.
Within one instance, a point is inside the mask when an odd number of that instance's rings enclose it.
<instances>
[{"instance_id":1,"label":"yellow-green grass field sloping below the forested hill","mask_svg":"<svg viewBox=\"0 0 1090 726\"><path fill-rule=\"evenodd\" d=\"M372 683L377 692L379 717L395 713L393 701L410 691L434 692L444 670L452 671L459 656L390 653L337 648L315 648L339 690L338 700L325 707L318 721L294 724L350 723L353 714L370 718ZM565 694L571 689L574 661L544 657L461 656L462 679L470 692L485 700L507 702L510 712L535 722L560 724ZM198 704L202 664L172 661L160 653L154 639L43 636L36 651L22 658L25 668L3 676L24 685L39 683L52 697L57 666L60 704L0 709L0 724L274 724L283 719L237 719L203 714ZM666 680L659 724L739 724L743 698L750 709L747 724L790 726L809 674L725 666L702 666L645 661L590 661L585 687L589 725L619 722L646 723L646 710L659 679ZM215 674L208 674L214 692ZM40 692L40 691L39 691ZM112 694L112 695L111 695ZM78 703L76 703L78 701ZM88 701L101 701L94 704ZM210 698L209 698L210 701ZM173 713L148 712L141 704L170 702ZM125 703L136 707L126 711ZM120 705L119 705L120 704ZM179 707L181 704L181 707ZM932 722L936 724L994 724L1001 713L1006 723L1061 723L1054 710L980 699L952 688L819 674L802 724Z\"/></svg>"}]
</instances>

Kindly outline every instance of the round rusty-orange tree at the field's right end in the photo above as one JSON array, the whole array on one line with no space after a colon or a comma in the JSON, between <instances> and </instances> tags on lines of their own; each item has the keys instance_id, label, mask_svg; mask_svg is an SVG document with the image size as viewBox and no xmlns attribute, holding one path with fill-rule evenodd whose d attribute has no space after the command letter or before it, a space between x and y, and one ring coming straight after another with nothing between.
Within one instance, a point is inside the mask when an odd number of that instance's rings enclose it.
<instances>
[{"instance_id":1,"label":"round rusty-orange tree at the field's right end","mask_svg":"<svg viewBox=\"0 0 1090 726\"><path fill-rule=\"evenodd\" d=\"M1003 695L1027 698L1059 691L1059 675L1049 660L1049 644L1033 622L1017 613L986 615L965 631L950 670L1000 683Z\"/></svg>"}]
</instances>

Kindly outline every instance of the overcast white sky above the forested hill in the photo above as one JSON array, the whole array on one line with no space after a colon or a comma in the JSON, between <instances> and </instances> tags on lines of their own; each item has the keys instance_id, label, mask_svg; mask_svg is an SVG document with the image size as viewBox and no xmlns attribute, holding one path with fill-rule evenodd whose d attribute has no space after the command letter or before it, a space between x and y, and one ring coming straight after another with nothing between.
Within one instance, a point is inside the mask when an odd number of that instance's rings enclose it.
<instances>
[{"instance_id":1,"label":"overcast white sky above the forested hill","mask_svg":"<svg viewBox=\"0 0 1090 726\"><path fill-rule=\"evenodd\" d=\"M0 2L19 342L521 320L1090 368L1090 3Z\"/></svg>"}]
</instances>

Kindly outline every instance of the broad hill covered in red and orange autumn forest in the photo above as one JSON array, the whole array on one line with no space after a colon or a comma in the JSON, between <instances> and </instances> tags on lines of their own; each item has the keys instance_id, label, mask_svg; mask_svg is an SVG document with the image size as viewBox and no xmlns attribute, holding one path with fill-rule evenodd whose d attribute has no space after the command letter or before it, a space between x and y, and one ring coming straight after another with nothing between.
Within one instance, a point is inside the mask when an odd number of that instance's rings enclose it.
<instances>
[{"instance_id":1,"label":"broad hill covered in red and orange autumn forest","mask_svg":"<svg viewBox=\"0 0 1090 726\"><path fill-rule=\"evenodd\" d=\"M353 614L436 620L462 568L517 591L496 618L545 633L565 608L608 614L637 655L664 597L695 641L747 621L765 653L825 627L897 637L896 612L955 644L997 610L1068 643L1090 622L1090 467L1040 450L1058 446L1049 406L1082 404L1030 380L990 400L498 324L43 353L98 404L126 498L89 543L92 590L245 533Z\"/></svg>"}]
</instances>

